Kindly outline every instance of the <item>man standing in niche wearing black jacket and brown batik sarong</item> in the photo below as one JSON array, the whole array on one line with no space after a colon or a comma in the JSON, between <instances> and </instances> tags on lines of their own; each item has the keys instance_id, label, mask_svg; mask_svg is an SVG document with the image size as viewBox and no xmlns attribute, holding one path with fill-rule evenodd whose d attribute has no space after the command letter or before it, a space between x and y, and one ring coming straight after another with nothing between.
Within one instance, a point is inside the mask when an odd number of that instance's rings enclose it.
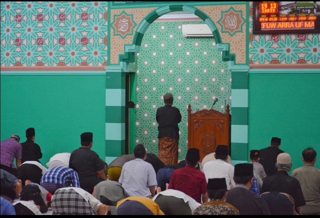
<instances>
[{"instance_id":1,"label":"man standing in niche wearing black jacket and brown batik sarong","mask_svg":"<svg viewBox=\"0 0 320 218\"><path fill-rule=\"evenodd\" d=\"M172 94L165 94L163 99L165 106L158 108L156 113L156 120L159 124L159 159L164 164L178 164L178 123L181 122L181 114L178 108L172 107Z\"/></svg>"}]
</instances>

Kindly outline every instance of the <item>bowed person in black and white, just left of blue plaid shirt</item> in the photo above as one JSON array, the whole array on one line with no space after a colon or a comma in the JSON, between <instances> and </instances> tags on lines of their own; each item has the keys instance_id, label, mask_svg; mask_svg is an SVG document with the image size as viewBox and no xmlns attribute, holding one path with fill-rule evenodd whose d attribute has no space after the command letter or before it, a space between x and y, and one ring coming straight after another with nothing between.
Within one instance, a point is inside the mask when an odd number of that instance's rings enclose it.
<instances>
[{"instance_id":1,"label":"bowed person in black and white, just left of blue plaid shirt","mask_svg":"<svg viewBox=\"0 0 320 218\"><path fill-rule=\"evenodd\" d=\"M41 177L48 172L41 163L36 161L25 161L21 164L18 169L18 178L22 182L22 187L25 185L27 180L30 180L33 183L40 184Z\"/></svg>"}]
</instances>

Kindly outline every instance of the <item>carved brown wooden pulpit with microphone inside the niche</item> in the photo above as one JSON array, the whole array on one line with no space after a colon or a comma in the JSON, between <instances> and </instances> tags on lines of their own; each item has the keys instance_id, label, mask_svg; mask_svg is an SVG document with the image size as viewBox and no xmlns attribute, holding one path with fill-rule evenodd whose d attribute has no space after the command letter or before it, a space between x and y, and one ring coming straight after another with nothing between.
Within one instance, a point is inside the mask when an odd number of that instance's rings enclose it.
<instances>
[{"instance_id":1,"label":"carved brown wooden pulpit with microphone inside the niche","mask_svg":"<svg viewBox=\"0 0 320 218\"><path fill-rule=\"evenodd\" d=\"M226 113L217 110L200 110L191 114L188 106L188 149L200 150L200 162L207 155L215 152L218 145L229 146L230 155L230 127L229 105Z\"/></svg>"}]
</instances>

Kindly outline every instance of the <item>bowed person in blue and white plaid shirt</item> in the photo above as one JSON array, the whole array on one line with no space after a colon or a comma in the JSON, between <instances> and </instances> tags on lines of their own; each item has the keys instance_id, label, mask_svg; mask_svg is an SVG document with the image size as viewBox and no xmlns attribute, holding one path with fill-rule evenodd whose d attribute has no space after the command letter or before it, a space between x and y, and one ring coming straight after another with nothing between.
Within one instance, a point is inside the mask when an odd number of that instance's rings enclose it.
<instances>
[{"instance_id":1,"label":"bowed person in blue and white plaid shirt","mask_svg":"<svg viewBox=\"0 0 320 218\"><path fill-rule=\"evenodd\" d=\"M68 167L55 167L50 169L41 178L40 185L51 194L54 194L59 188L67 188L70 186L80 188L77 172Z\"/></svg>"}]
</instances>

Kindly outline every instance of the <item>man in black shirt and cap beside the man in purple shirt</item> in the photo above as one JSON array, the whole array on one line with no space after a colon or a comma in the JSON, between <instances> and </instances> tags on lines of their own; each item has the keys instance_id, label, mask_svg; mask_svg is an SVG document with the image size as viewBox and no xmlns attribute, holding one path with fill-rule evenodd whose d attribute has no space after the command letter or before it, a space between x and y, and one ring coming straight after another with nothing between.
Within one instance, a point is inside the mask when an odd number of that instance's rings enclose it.
<instances>
[{"instance_id":1,"label":"man in black shirt and cap beside the man in purple shirt","mask_svg":"<svg viewBox=\"0 0 320 218\"><path fill-rule=\"evenodd\" d=\"M41 148L35 142L36 132L34 128L29 128L26 130L27 141L21 143L22 145L22 160L25 161L36 161L39 162L39 159L42 158Z\"/></svg>"}]
</instances>

